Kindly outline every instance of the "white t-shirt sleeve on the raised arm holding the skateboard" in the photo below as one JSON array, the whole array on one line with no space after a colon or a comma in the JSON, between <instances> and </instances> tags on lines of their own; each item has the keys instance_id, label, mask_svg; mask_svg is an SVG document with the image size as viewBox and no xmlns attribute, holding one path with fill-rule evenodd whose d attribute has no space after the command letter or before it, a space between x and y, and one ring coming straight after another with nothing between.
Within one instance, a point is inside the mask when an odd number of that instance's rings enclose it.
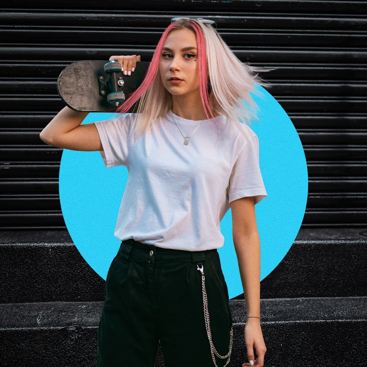
<instances>
[{"instance_id":1,"label":"white t-shirt sleeve on the raised arm holding the skateboard","mask_svg":"<svg viewBox=\"0 0 367 367\"><path fill-rule=\"evenodd\" d=\"M131 115L94 123L100 135L103 150L101 156L106 167L126 165L129 152Z\"/></svg>"}]
</instances>

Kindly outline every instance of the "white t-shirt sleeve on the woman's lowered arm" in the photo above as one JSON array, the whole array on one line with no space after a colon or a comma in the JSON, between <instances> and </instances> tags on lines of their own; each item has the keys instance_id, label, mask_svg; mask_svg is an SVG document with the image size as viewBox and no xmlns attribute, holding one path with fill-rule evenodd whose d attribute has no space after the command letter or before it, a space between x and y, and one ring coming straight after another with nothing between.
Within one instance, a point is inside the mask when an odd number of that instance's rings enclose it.
<instances>
[{"instance_id":1,"label":"white t-shirt sleeve on the woman's lowered arm","mask_svg":"<svg viewBox=\"0 0 367 367\"><path fill-rule=\"evenodd\" d=\"M248 139L238 155L228 189L230 203L248 196L255 196L255 204L267 196L260 171L259 139L256 135Z\"/></svg>"}]
</instances>

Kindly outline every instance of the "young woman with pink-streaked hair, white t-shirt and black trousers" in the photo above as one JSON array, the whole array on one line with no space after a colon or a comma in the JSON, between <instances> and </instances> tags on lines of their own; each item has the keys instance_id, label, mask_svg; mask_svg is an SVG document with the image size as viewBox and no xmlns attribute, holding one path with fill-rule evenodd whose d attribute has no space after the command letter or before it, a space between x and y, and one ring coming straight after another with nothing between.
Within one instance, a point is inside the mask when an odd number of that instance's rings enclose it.
<instances>
[{"instance_id":1,"label":"young woman with pink-streaked hair, white t-shirt and black trousers","mask_svg":"<svg viewBox=\"0 0 367 367\"><path fill-rule=\"evenodd\" d=\"M106 279L98 366L227 366L233 342L228 291L217 248L231 207L247 308L248 363L263 366L260 240L255 204L266 192L252 105L253 69L208 20L179 19L164 31L141 86L120 107L136 113L80 125L65 107L41 132L48 144L101 151L129 179L115 236L121 247ZM131 75L140 56L111 56ZM256 355L255 352L256 351Z\"/></svg>"}]
</instances>

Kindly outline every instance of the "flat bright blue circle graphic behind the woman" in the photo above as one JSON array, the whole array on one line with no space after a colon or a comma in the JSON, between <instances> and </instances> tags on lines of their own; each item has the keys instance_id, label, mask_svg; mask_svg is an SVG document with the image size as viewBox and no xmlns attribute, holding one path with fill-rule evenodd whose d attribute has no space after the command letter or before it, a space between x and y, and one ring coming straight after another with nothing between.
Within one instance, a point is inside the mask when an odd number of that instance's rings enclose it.
<instances>
[{"instance_id":1,"label":"flat bright blue circle graphic behind the woman","mask_svg":"<svg viewBox=\"0 0 367 367\"><path fill-rule=\"evenodd\" d=\"M258 120L251 128L260 141L260 166L268 197L256 205L261 240L261 279L287 254L298 234L306 209L308 174L297 131L281 105L257 86L253 98ZM83 124L111 114L89 113ZM64 150L59 193L65 224L85 261L106 278L120 246L114 227L127 182L125 167L105 168L99 152ZM230 298L243 292L232 239L230 210L221 221L225 238L218 252Z\"/></svg>"}]
</instances>

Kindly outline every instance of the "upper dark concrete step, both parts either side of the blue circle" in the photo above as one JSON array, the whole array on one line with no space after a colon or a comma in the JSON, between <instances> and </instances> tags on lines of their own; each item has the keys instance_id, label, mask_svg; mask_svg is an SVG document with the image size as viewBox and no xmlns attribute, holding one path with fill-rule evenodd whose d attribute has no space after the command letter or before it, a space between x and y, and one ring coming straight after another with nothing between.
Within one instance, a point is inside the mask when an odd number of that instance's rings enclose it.
<instances>
[{"instance_id":1,"label":"upper dark concrete step, both parts either side of the blue circle","mask_svg":"<svg viewBox=\"0 0 367 367\"><path fill-rule=\"evenodd\" d=\"M262 298L366 295L367 236L361 231L302 229L283 261L262 281ZM0 257L0 303L105 298L105 281L66 231L0 232Z\"/></svg>"}]
</instances>

